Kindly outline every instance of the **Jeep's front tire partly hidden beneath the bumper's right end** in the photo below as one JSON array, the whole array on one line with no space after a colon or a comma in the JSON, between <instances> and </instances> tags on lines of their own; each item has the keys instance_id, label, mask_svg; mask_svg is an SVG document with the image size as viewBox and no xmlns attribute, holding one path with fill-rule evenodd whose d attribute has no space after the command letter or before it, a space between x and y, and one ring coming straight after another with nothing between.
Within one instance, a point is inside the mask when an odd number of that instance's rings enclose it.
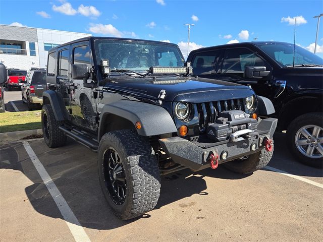
<instances>
[{"instance_id":1,"label":"Jeep's front tire partly hidden beneath the bumper's right end","mask_svg":"<svg viewBox=\"0 0 323 242\"><path fill-rule=\"evenodd\" d=\"M265 149L261 149L257 153L251 154L245 158L236 159L233 161L229 161L224 163L224 166L229 170L240 174L249 174L256 170L259 170L268 164L272 159L274 152L274 140L273 141L273 150L266 151Z\"/></svg>"}]
</instances>

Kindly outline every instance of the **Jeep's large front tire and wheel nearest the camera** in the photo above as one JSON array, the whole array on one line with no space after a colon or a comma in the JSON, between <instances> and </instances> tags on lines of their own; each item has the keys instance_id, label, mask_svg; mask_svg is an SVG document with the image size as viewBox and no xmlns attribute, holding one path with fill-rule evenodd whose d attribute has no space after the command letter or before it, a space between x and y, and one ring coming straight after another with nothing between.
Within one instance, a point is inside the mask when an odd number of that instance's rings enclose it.
<instances>
[{"instance_id":1,"label":"Jeep's large front tire and wheel nearest the camera","mask_svg":"<svg viewBox=\"0 0 323 242\"><path fill-rule=\"evenodd\" d=\"M135 131L103 135L98 174L104 197L120 219L138 217L156 206L160 193L158 163L148 139Z\"/></svg>"}]
</instances>

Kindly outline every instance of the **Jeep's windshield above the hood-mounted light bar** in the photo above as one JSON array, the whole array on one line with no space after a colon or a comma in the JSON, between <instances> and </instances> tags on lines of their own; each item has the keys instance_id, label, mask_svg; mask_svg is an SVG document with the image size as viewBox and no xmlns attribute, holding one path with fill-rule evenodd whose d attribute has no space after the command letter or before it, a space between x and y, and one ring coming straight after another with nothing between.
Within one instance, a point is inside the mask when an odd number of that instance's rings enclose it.
<instances>
[{"instance_id":1,"label":"Jeep's windshield above the hood-mounted light bar","mask_svg":"<svg viewBox=\"0 0 323 242\"><path fill-rule=\"evenodd\" d=\"M111 70L146 72L152 66L184 66L180 49L163 42L97 39L94 47L97 63L100 63L101 59L108 59Z\"/></svg>"}]
</instances>

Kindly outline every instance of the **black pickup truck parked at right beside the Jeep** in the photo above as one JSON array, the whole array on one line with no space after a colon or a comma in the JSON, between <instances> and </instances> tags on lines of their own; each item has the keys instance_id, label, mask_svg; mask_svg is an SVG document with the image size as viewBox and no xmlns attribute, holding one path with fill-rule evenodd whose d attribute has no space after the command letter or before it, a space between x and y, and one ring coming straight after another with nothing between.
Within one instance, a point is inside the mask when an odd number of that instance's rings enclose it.
<instances>
[{"instance_id":1,"label":"black pickup truck parked at right beside the Jeep","mask_svg":"<svg viewBox=\"0 0 323 242\"><path fill-rule=\"evenodd\" d=\"M296 159L322 167L323 59L289 43L250 42L200 48L187 61L194 75L250 85L269 98Z\"/></svg>"}]
</instances>

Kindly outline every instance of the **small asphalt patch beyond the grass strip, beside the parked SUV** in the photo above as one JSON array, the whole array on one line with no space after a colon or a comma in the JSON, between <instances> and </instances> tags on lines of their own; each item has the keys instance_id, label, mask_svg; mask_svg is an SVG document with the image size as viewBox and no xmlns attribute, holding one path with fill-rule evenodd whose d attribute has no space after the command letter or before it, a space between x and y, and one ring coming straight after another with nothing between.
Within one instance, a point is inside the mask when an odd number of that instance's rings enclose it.
<instances>
[{"instance_id":1,"label":"small asphalt patch beyond the grass strip, beside the parked SUV","mask_svg":"<svg viewBox=\"0 0 323 242\"><path fill-rule=\"evenodd\" d=\"M27 104L22 102L20 88L14 89L14 91L8 91L5 88L5 108L8 112L27 111Z\"/></svg>"}]
</instances>

